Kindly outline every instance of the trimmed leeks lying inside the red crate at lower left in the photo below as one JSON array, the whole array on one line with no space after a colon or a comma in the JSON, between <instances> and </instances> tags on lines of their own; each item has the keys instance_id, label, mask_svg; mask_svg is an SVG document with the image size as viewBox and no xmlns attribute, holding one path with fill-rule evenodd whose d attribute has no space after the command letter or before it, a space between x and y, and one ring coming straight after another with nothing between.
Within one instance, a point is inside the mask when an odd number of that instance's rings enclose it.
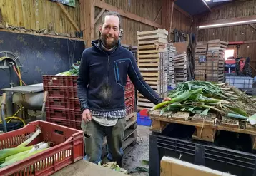
<instances>
[{"instance_id":1,"label":"trimmed leeks lying inside the red crate at lower left","mask_svg":"<svg viewBox=\"0 0 256 176\"><path fill-rule=\"evenodd\" d=\"M32 155L36 155L39 152L47 150L50 143L41 142L36 145L27 146L40 133L40 128L37 128L36 131L24 141L24 143L21 143L17 147L5 148L3 150L0 150L0 168L13 165L15 162L19 162L20 160L24 160L27 157L31 157Z\"/></svg>"}]
</instances>

